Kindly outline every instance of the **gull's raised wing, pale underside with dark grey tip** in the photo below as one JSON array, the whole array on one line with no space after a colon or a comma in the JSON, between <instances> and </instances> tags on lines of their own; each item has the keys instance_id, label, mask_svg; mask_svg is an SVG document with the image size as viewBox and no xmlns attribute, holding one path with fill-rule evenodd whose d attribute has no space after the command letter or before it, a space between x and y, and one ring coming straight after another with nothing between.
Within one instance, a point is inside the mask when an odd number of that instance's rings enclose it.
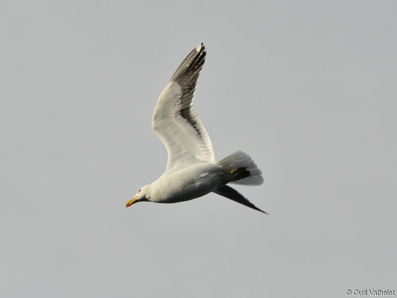
<instances>
[{"instance_id":1,"label":"gull's raised wing, pale underside with dark grey tip","mask_svg":"<svg viewBox=\"0 0 397 298\"><path fill-rule=\"evenodd\" d=\"M193 108L205 55L201 43L175 71L154 108L152 128L167 148L167 171L215 162L211 140Z\"/></svg>"}]
</instances>

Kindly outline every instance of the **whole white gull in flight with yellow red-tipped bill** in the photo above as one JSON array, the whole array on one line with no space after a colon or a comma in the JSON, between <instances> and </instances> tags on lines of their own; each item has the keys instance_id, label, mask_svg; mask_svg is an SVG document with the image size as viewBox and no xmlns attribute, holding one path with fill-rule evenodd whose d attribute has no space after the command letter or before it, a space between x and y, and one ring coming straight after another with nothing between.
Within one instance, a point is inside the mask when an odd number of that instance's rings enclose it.
<instances>
[{"instance_id":1,"label":"whole white gull in flight with yellow red-tipped bill","mask_svg":"<svg viewBox=\"0 0 397 298\"><path fill-rule=\"evenodd\" d=\"M242 151L215 161L211 140L193 108L205 55L201 43L183 60L161 92L154 108L152 128L167 148L167 169L159 179L139 188L126 207L142 201L183 202L214 192L266 213L226 185L261 185L264 182L261 170Z\"/></svg>"}]
</instances>

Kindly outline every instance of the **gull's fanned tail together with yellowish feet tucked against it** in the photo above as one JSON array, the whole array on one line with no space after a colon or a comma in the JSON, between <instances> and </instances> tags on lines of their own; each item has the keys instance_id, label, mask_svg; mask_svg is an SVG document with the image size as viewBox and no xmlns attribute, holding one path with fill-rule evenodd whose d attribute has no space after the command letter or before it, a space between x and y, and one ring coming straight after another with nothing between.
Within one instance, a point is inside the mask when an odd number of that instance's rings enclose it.
<instances>
[{"instance_id":1,"label":"gull's fanned tail together with yellowish feet tucked against it","mask_svg":"<svg viewBox=\"0 0 397 298\"><path fill-rule=\"evenodd\" d=\"M261 185L264 182L261 170L243 151L236 151L216 164L222 168L223 173L230 174L225 184Z\"/></svg>"}]
</instances>

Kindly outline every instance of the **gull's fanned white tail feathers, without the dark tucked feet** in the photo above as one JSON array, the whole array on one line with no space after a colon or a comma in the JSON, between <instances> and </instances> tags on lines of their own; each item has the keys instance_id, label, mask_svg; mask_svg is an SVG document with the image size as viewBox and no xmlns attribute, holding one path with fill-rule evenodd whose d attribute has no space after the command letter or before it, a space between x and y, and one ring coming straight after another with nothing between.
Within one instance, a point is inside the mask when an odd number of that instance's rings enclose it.
<instances>
[{"instance_id":1,"label":"gull's fanned white tail feathers, without the dark tucked feet","mask_svg":"<svg viewBox=\"0 0 397 298\"><path fill-rule=\"evenodd\" d=\"M225 171L231 171L237 168L246 168L246 170L250 172L250 176L243 179L230 181L229 183L242 185L261 185L264 182L261 170L257 167L252 158L243 151L236 151L226 156L224 159L216 162L216 164L222 167Z\"/></svg>"}]
</instances>

